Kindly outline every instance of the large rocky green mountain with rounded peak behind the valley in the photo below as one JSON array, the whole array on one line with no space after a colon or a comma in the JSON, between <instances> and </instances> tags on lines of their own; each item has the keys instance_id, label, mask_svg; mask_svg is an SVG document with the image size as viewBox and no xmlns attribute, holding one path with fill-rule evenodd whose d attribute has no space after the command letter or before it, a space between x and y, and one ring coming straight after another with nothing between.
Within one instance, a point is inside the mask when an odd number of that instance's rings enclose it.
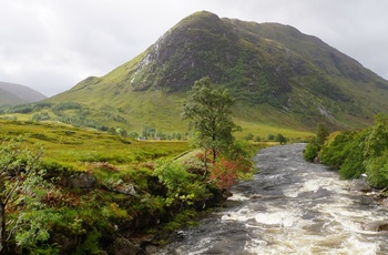
<instances>
[{"instance_id":1,"label":"large rocky green mountain with rounded peak behind the valley","mask_svg":"<svg viewBox=\"0 0 388 255\"><path fill-rule=\"evenodd\" d=\"M387 111L388 82L320 39L279 23L196 12L133 60L49 101L112 111L130 126L183 126L181 103L210 76L237 99L236 121L313 130L363 128Z\"/></svg>"}]
</instances>

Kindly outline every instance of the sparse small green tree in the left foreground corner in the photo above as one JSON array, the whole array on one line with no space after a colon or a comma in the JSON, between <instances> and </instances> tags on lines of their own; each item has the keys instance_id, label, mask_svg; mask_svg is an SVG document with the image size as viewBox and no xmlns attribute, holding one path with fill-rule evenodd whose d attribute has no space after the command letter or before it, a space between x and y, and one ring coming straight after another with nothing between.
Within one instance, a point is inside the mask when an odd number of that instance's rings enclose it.
<instances>
[{"instance_id":1,"label":"sparse small green tree in the left foreground corner","mask_svg":"<svg viewBox=\"0 0 388 255\"><path fill-rule=\"evenodd\" d=\"M57 217L42 203L50 188L40 171L42 149L32 152L22 139L0 140L0 254L9 243L32 247L49 238L49 222Z\"/></svg>"}]
</instances>

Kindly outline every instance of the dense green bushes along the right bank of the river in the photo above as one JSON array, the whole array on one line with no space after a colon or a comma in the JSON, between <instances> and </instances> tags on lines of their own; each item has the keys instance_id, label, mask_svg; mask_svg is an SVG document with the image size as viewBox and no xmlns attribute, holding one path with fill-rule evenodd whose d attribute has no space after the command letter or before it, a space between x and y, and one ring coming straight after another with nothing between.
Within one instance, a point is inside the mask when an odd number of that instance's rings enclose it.
<instances>
[{"instance_id":1,"label":"dense green bushes along the right bank of the river","mask_svg":"<svg viewBox=\"0 0 388 255\"><path fill-rule=\"evenodd\" d=\"M358 178L365 174L371 186L388 187L387 113L377 114L374 125L359 131L336 132L328 136L327 132L321 132L324 129L318 129L317 139L306 146L306 160L316 159L329 165L341 178Z\"/></svg>"}]
</instances>

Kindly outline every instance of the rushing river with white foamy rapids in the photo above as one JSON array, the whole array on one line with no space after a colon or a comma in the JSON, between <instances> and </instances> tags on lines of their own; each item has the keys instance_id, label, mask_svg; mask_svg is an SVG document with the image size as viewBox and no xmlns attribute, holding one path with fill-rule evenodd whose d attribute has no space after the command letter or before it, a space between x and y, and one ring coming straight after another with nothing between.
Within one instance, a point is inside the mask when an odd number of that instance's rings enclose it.
<instances>
[{"instance_id":1,"label":"rushing river with white foamy rapids","mask_svg":"<svg viewBox=\"0 0 388 255\"><path fill-rule=\"evenodd\" d=\"M387 211L350 192L351 182L305 162L304 147L262 150L254 180L236 185L224 210L180 231L157 254L388 254L386 232L363 231Z\"/></svg>"}]
</instances>

